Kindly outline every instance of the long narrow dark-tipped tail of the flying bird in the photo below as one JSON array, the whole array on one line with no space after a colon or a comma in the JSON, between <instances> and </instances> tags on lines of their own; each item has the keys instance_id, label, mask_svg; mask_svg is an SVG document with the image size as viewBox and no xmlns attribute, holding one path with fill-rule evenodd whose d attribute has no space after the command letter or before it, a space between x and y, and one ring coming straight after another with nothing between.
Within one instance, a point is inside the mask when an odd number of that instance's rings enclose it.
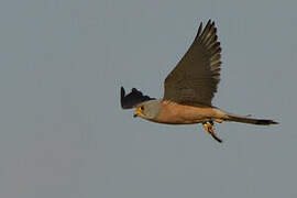
<instances>
[{"instance_id":1,"label":"long narrow dark-tipped tail of the flying bird","mask_svg":"<svg viewBox=\"0 0 297 198\"><path fill-rule=\"evenodd\" d=\"M257 124L257 125L270 125L270 124L278 124L278 122L275 122L273 120L266 120L266 119L254 119L250 117L241 117L237 114L227 114L226 118L227 121L233 121L233 122L242 122L242 123L250 123L250 124Z\"/></svg>"}]
</instances>

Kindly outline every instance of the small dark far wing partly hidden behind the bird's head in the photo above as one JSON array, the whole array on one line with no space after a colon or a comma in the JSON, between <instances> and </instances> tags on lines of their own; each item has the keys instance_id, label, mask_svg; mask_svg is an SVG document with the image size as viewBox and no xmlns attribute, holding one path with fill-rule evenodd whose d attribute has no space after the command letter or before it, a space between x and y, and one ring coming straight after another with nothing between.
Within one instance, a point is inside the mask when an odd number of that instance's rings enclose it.
<instances>
[{"instance_id":1,"label":"small dark far wing partly hidden behind the bird's head","mask_svg":"<svg viewBox=\"0 0 297 198\"><path fill-rule=\"evenodd\" d=\"M143 96L141 91L133 88L130 94L125 95L124 88L121 87L121 106L123 109L132 109L141 102L153 100L148 96Z\"/></svg>"}]
</instances>

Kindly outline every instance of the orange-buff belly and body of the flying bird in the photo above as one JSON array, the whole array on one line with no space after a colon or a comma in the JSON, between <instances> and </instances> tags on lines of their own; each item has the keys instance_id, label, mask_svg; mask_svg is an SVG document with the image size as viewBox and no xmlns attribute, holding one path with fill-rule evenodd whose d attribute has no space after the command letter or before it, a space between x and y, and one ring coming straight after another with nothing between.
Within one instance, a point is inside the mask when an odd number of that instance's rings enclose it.
<instances>
[{"instance_id":1,"label":"orange-buff belly and body of the flying bird","mask_svg":"<svg viewBox=\"0 0 297 198\"><path fill-rule=\"evenodd\" d=\"M215 114L216 111L211 107L194 107L174 102L163 102L160 114L152 121L167 124L194 124L210 121Z\"/></svg>"}]
</instances>

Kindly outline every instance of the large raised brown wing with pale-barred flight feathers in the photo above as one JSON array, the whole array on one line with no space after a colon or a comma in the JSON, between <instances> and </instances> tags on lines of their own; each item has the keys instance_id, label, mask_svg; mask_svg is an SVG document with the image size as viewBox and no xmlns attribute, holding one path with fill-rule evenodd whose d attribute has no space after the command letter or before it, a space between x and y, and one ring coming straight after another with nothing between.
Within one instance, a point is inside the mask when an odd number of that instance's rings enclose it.
<instances>
[{"instance_id":1,"label":"large raised brown wing with pale-barred flight feathers","mask_svg":"<svg viewBox=\"0 0 297 198\"><path fill-rule=\"evenodd\" d=\"M164 99L178 103L211 106L220 81L221 47L215 22L202 23L182 61L164 82Z\"/></svg>"}]
</instances>

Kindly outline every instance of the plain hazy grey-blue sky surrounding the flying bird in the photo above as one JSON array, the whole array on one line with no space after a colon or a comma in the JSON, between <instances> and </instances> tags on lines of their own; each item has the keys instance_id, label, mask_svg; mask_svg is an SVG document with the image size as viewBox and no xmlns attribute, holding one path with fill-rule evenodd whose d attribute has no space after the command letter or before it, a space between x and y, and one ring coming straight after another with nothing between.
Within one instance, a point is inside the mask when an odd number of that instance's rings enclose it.
<instances>
[{"instance_id":1,"label":"plain hazy grey-blue sky surrounding the flying bird","mask_svg":"<svg viewBox=\"0 0 297 198\"><path fill-rule=\"evenodd\" d=\"M297 197L295 0L2 0L0 197ZM215 106L279 121L133 119L120 86L163 80L213 19L222 46Z\"/></svg>"}]
</instances>

